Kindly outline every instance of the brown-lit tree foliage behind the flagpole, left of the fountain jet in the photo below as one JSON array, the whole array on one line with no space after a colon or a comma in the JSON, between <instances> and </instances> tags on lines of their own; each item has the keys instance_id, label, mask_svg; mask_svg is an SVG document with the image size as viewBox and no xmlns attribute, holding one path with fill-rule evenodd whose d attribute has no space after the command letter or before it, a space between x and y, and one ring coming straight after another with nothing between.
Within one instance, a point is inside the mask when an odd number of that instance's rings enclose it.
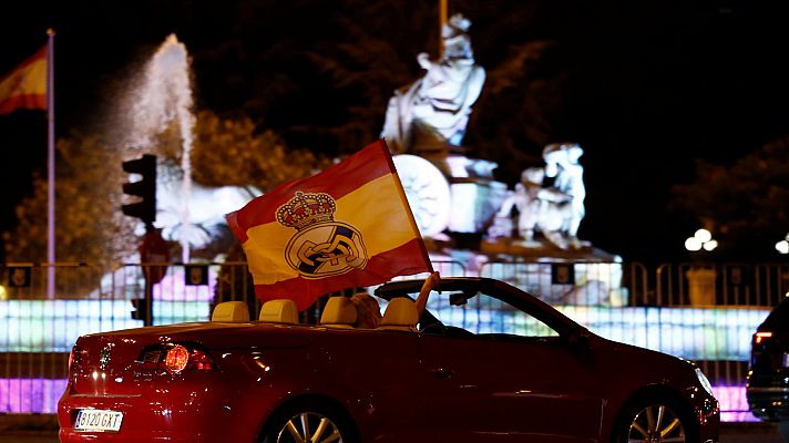
<instances>
[{"instance_id":1,"label":"brown-lit tree foliage behind the flagpole, left of the fountain jet","mask_svg":"<svg viewBox=\"0 0 789 443\"><path fill-rule=\"evenodd\" d=\"M119 153L83 134L60 140L57 152L57 260L105 267L120 261L135 245L129 241L133 226L120 212ZM17 230L3 234L8 261L47 261L48 178L34 177L33 188L17 206Z\"/></svg>"}]
</instances>

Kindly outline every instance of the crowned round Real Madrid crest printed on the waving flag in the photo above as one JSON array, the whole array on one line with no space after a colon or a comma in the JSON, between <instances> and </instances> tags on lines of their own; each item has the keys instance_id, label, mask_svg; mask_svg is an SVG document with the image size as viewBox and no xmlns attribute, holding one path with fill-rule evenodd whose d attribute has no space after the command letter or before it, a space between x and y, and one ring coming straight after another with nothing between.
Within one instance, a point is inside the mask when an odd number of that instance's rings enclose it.
<instances>
[{"instance_id":1,"label":"crowned round Real Madrid crest printed on the waving flag","mask_svg":"<svg viewBox=\"0 0 789 443\"><path fill-rule=\"evenodd\" d=\"M277 209L277 222L297 230L285 258L306 278L337 276L367 264L361 234L347 223L336 222L336 209L330 195L301 192Z\"/></svg>"}]
</instances>

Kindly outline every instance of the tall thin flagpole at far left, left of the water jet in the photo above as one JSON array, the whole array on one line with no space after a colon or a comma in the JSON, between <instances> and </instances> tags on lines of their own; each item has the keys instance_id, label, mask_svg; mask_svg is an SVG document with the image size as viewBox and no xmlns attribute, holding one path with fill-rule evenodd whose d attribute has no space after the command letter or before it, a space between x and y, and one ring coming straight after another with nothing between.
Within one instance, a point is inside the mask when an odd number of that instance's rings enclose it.
<instances>
[{"instance_id":1,"label":"tall thin flagpole at far left, left of the water jet","mask_svg":"<svg viewBox=\"0 0 789 443\"><path fill-rule=\"evenodd\" d=\"M47 297L54 298L54 30L47 35L47 122L48 122L48 186L47 186Z\"/></svg>"}]
</instances>

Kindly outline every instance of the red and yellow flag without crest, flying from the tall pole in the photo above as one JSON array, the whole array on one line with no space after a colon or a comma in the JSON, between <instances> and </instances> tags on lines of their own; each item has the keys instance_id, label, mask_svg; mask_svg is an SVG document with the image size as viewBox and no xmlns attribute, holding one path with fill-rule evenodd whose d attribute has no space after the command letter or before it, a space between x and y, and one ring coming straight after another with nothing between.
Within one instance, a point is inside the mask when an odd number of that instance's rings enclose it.
<instances>
[{"instance_id":1,"label":"red and yellow flag without crest, flying from the tall pole","mask_svg":"<svg viewBox=\"0 0 789 443\"><path fill-rule=\"evenodd\" d=\"M47 109L47 45L0 79L0 114Z\"/></svg>"}]
</instances>

